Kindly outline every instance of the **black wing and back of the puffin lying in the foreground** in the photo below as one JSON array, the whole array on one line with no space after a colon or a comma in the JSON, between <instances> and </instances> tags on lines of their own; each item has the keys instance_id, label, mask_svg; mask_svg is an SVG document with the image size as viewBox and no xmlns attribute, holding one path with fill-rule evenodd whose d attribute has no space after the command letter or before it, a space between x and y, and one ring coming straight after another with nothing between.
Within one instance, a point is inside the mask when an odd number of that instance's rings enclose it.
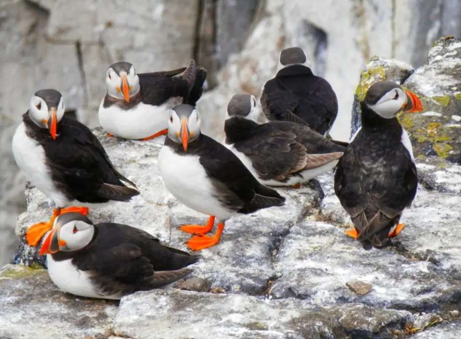
<instances>
[{"instance_id":1,"label":"black wing and back of the puffin lying in the foreground","mask_svg":"<svg viewBox=\"0 0 461 339\"><path fill-rule=\"evenodd\" d=\"M121 224L98 224L91 246L72 259L78 269L90 271L95 284L107 294L126 294L170 284L198 260L160 244L152 235Z\"/></svg>"}]
</instances>

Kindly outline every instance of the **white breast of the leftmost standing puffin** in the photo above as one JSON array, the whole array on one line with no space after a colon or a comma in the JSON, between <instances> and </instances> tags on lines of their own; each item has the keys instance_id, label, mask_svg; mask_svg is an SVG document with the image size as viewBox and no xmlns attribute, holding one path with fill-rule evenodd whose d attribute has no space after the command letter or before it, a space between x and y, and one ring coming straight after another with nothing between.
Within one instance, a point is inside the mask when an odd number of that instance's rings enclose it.
<instances>
[{"instance_id":1,"label":"white breast of the leftmost standing puffin","mask_svg":"<svg viewBox=\"0 0 461 339\"><path fill-rule=\"evenodd\" d=\"M68 206L69 200L51 180L51 172L46 165L43 147L26 134L24 122L21 122L14 133L12 149L16 163L24 171L29 181L43 194L54 200L57 206Z\"/></svg>"}]
</instances>

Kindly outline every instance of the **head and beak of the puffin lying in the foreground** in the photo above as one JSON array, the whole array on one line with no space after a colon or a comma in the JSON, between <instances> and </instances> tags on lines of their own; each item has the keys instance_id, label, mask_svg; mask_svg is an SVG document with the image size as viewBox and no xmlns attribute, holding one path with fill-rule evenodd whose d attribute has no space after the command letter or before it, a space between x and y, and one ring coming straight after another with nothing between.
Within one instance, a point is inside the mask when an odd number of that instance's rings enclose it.
<instances>
[{"instance_id":1,"label":"head and beak of the puffin lying in the foreground","mask_svg":"<svg viewBox=\"0 0 461 339\"><path fill-rule=\"evenodd\" d=\"M77 212L61 214L40 248L40 256L59 251L78 251L93 239L93 222Z\"/></svg>"}]
</instances>

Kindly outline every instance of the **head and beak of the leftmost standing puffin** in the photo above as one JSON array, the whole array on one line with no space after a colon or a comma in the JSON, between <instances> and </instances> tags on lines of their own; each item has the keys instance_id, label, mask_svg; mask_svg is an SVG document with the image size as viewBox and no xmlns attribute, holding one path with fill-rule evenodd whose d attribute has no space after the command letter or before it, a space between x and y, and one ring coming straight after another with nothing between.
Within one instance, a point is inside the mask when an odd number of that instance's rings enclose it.
<instances>
[{"instance_id":1,"label":"head and beak of the leftmost standing puffin","mask_svg":"<svg viewBox=\"0 0 461 339\"><path fill-rule=\"evenodd\" d=\"M55 89L41 89L32 97L28 113L38 127L48 128L56 139L56 125L64 116L63 96Z\"/></svg>"}]
</instances>

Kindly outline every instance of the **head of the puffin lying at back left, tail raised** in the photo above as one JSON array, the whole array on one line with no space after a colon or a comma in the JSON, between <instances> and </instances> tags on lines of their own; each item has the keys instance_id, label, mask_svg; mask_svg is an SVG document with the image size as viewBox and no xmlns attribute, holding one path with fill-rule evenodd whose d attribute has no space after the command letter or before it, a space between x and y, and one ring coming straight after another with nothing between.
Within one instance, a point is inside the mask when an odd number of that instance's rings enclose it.
<instances>
[{"instance_id":1,"label":"head of the puffin lying at back left, tail raised","mask_svg":"<svg viewBox=\"0 0 461 339\"><path fill-rule=\"evenodd\" d=\"M141 89L139 76L136 74L134 66L126 61L119 61L109 66L106 84L108 95L125 100L127 103Z\"/></svg>"}]
</instances>

